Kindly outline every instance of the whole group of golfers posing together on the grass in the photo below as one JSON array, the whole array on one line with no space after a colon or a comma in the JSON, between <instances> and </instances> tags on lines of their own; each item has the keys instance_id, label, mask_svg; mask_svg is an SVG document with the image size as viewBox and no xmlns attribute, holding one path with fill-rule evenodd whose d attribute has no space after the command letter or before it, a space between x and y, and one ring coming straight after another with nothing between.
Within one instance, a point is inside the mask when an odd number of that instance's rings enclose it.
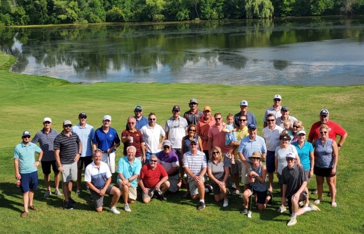
<instances>
[{"instance_id":1,"label":"whole group of golfers posing together on the grass","mask_svg":"<svg viewBox=\"0 0 364 234\"><path fill-rule=\"evenodd\" d=\"M322 201L326 177L331 205L337 205L338 149L344 144L347 133L329 121L327 109L320 111L320 121L311 127L306 141L303 123L289 115L288 106L280 105L281 96L278 94L273 97L273 105L265 111L262 137L257 135L257 121L248 111L246 100L240 102L241 111L228 114L227 124L220 112L212 116L210 106L199 110L197 99L192 98L188 104L190 109L183 117L180 106L174 105L164 128L157 124L155 113L151 112L145 118L142 107L135 106L135 115L127 118L121 138L110 127L110 115L104 115L102 127L95 131L86 123L85 112L79 114L76 126L64 121L60 134L51 128L50 118L44 118L43 129L31 142L30 132L24 131L22 143L14 150L16 178L21 181L24 201L21 216L27 216L29 208L37 209L33 205L33 196L37 189L36 167L39 164L47 187L44 197L51 195L51 167L54 193L62 195L59 191L61 172L67 209L76 204L71 198L72 181L77 180L76 194L81 192L83 168L86 189L91 193L98 212L103 209L105 194L112 196L110 212L118 214L116 203L120 196L124 210L131 211L129 203L137 198L137 186L141 189L142 201L148 203L154 196L164 200L165 192L174 194L184 183L187 187L184 196L199 200L198 210L205 208L204 196L209 190L212 190L216 202L223 201L223 206L228 206L229 178L232 179L233 194L243 198L241 213L247 212L253 194L258 209L263 210L273 202L274 172L279 180L281 197L281 207L277 211L284 212L288 204L292 214L287 225L295 224L296 216L305 211L319 210L308 198L307 182L313 174L316 175L318 193L314 203ZM338 143L337 135L340 136ZM115 150L121 143L124 157L117 164L117 188L111 185L111 176L115 172ZM39 153L37 161L35 152ZM243 190L240 182L244 184ZM305 204L299 209L301 201Z\"/></svg>"}]
</instances>

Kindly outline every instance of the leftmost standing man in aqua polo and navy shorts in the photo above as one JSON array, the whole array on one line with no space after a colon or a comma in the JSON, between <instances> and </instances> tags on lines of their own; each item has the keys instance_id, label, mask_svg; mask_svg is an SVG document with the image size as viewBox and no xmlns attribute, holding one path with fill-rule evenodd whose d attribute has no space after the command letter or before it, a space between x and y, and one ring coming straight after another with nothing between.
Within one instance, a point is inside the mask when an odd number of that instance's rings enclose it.
<instances>
[{"instance_id":1,"label":"leftmost standing man in aqua polo and navy shorts","mask_svg":"<svg viewBox=\"0 0 364 234\"><path fill-rule=\"evenodd\" d=\"M20 180L20 189L23 193L24 211L20 217L26 217L29 209L38 210L33 205L34 190L38 189L37 167L40 164L43 151L34 143L30 142L30 132L24 131L23 142L14 148L14 168L15 178ZM38 160L35 161L34 153L39 153Z\"/></svg>"}]
</instances>

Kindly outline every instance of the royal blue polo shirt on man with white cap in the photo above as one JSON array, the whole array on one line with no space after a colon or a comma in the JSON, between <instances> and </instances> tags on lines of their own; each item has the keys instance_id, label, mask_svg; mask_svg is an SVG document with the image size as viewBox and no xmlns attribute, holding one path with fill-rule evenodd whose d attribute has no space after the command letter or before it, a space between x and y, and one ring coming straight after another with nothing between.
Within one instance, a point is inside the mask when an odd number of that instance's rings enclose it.
<instances>
[{"instance_id":1,"label":"royal blue polo shirt on man with white cap","mask_svg":"<svg viewBox=\"0 0 364 234\"><path fill-rule=\"evenodd\" d=\"M95 131L95 137L92 141L94 144L97 144L97 148L99 148L103 152L106 152L115 144L120 143L120 139L117 135L116 130L111 127L109 128L109 131L107 133L102 130L102 127L98 128ZM115 150L113 150L111 153L113 152L115 152Z\"/></svg>"}]
</instances>

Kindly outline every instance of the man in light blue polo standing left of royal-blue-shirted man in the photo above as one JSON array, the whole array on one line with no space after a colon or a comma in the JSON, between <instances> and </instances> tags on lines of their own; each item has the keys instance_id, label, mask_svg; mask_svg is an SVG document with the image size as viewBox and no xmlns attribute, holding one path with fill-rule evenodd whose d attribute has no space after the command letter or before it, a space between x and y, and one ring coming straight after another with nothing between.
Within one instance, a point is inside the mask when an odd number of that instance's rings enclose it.
<instances>
[{"instance_id":1,"label":"man in light blue polo standing left of royal-blue-shirted man","mask_svg":"<svg viewBox=\"0 0 364 234\"><path fill-rule=\"evenodd\" d=\"M95 136L94 127L86 124L87 114L82 112L79 114L79 124L72 127L71 132L76 133L82 143L82 152L81 157L77 163L77 190L76 194L81 193L81 178L82 178L82 169L85 165L85 169L87 165L92 162L92 140ZM87 189L89 190L89 189Z\"/></svg>"}]
</instances>

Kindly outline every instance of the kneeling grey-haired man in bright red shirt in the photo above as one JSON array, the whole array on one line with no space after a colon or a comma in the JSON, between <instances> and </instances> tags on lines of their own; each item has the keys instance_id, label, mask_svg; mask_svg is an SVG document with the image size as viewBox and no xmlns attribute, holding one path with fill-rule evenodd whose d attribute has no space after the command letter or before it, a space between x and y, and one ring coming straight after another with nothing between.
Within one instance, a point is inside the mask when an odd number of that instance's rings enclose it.
<instances>
[{"instance_id":1,"label":"kneeling grey-haired man in bright red shirt","mask_svg":"<svg viewBox=\"0 0 364 234\"><path fill-rule=\"evenodd\" d=\"M155 154L152 154L149 163L141 168L138 180L143 192L142 198L144 203L150 202L154 194L156 194L159 200L164 200L163 194L168 190L170 183L166 170L158 163L158 158Z\"/></svg>"}]
</instances>

